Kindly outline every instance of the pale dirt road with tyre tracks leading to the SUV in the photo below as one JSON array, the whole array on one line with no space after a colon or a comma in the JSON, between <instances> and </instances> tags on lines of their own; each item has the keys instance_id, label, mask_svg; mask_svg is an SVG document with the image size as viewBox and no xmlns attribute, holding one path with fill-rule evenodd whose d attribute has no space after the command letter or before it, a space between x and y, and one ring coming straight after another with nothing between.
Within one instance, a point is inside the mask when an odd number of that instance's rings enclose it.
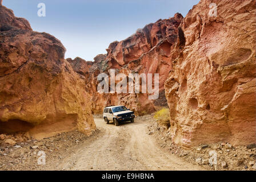
<instances>
[{"instance_id":1,"label":"pale dirt road with tyre tracks leading to the SUV","mask_svg":"<svg viewBox=\"0 0 256 182\"><path fill-rule=\"evenodd\" d=\"M146 133L147 123L106 125L95 119L101 135L88 139L58 165L65 170L201 170L159 147Z\"/></svg>"}]
</instances>

